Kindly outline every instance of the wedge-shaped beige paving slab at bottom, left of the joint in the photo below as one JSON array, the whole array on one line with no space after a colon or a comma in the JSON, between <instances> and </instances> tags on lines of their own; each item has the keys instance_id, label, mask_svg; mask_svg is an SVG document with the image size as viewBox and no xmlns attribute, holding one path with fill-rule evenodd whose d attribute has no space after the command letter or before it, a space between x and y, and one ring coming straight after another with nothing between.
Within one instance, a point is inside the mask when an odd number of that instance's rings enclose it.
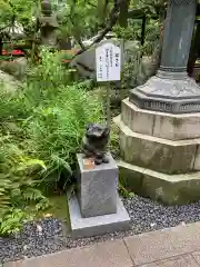
<instances>
[{"instance_id":1,"label":"wedge-shaped beige paving slab at bottom, left of the joint","mask_svg":"<svg viewBox=\"0 0 200 267\"><path fill-rule=\"evenodd\" d=\"M132 261L123 241L114 240L10 263L4 267L132 267Z\"/></svg>"}]
</instances>

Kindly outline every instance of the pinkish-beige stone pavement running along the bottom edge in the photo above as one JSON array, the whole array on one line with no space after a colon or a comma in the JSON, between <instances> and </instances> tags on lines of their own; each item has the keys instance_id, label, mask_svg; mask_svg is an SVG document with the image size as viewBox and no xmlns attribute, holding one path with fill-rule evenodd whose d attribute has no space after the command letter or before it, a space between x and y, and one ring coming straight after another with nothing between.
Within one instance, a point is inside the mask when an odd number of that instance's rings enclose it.
<instances>
[{"instance_id":1,"label":"pinkish-beige stone pavement running along the bottom edge","mask_svg":"<svg viewBox=\"0 0 200 267\"><path fill-rule=\"evenodd\" d=\"M200 222L74 248L3 267L199 267Z\"/></svg>"}]
</instances>

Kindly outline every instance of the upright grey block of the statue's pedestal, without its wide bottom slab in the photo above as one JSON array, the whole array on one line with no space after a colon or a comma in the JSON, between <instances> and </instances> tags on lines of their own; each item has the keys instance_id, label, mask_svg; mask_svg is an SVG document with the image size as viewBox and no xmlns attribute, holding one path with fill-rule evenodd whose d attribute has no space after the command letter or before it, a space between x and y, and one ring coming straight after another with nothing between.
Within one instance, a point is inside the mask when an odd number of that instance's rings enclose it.
<instances>
[{"instance_id":1,"label":"upright grey block of the statue's pedestal, without its wide bottom slab","mask_svg":"<svg viewBox=\"0 0 200 267\"><path fill-rule=\"evenodd\" d=\"M109 164L84 169L82 155L78 155L78 196L86 218L117 212L118 166L110 154L108 158Z\"/></svg>"}]
</instances>

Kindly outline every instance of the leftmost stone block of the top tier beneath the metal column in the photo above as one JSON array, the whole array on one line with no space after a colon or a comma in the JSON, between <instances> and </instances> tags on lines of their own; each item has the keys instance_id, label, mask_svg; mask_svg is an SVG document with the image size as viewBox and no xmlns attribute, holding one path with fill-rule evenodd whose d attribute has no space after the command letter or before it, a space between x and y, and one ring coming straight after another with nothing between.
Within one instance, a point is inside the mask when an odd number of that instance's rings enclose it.
<instances>
[{"instance_id":1,"label":"leftmost stone block of the top tier beneath the metal column","mask_svg":"<svg viewBox=\"0 0 200 267\"><path fill-rule=\"evenodd\" d=\"M122 101L121 119L132 131L152 136L154 116L156 112L138 108L128 98Z\"/></svg>"}]
</instances>

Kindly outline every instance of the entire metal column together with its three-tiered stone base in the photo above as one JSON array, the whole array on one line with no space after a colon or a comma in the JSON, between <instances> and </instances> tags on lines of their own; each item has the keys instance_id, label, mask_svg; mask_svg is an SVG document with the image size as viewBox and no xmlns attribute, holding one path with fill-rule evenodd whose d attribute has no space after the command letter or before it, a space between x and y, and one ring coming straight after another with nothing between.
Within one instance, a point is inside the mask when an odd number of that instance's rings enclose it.
<instances>
[{"instance_id":1,"label":"entire metal column together with its three-tiered stone base","mask_svg":"<svg viewBox=\"0 0 200 267\"><path fill-rule=\"evenodd\" d=\"M196 9L196 0L168 1L160 69L116 118L120 175L168 205L200 199L200 87L187 73Z\"/></svg>"}]
</instances>

